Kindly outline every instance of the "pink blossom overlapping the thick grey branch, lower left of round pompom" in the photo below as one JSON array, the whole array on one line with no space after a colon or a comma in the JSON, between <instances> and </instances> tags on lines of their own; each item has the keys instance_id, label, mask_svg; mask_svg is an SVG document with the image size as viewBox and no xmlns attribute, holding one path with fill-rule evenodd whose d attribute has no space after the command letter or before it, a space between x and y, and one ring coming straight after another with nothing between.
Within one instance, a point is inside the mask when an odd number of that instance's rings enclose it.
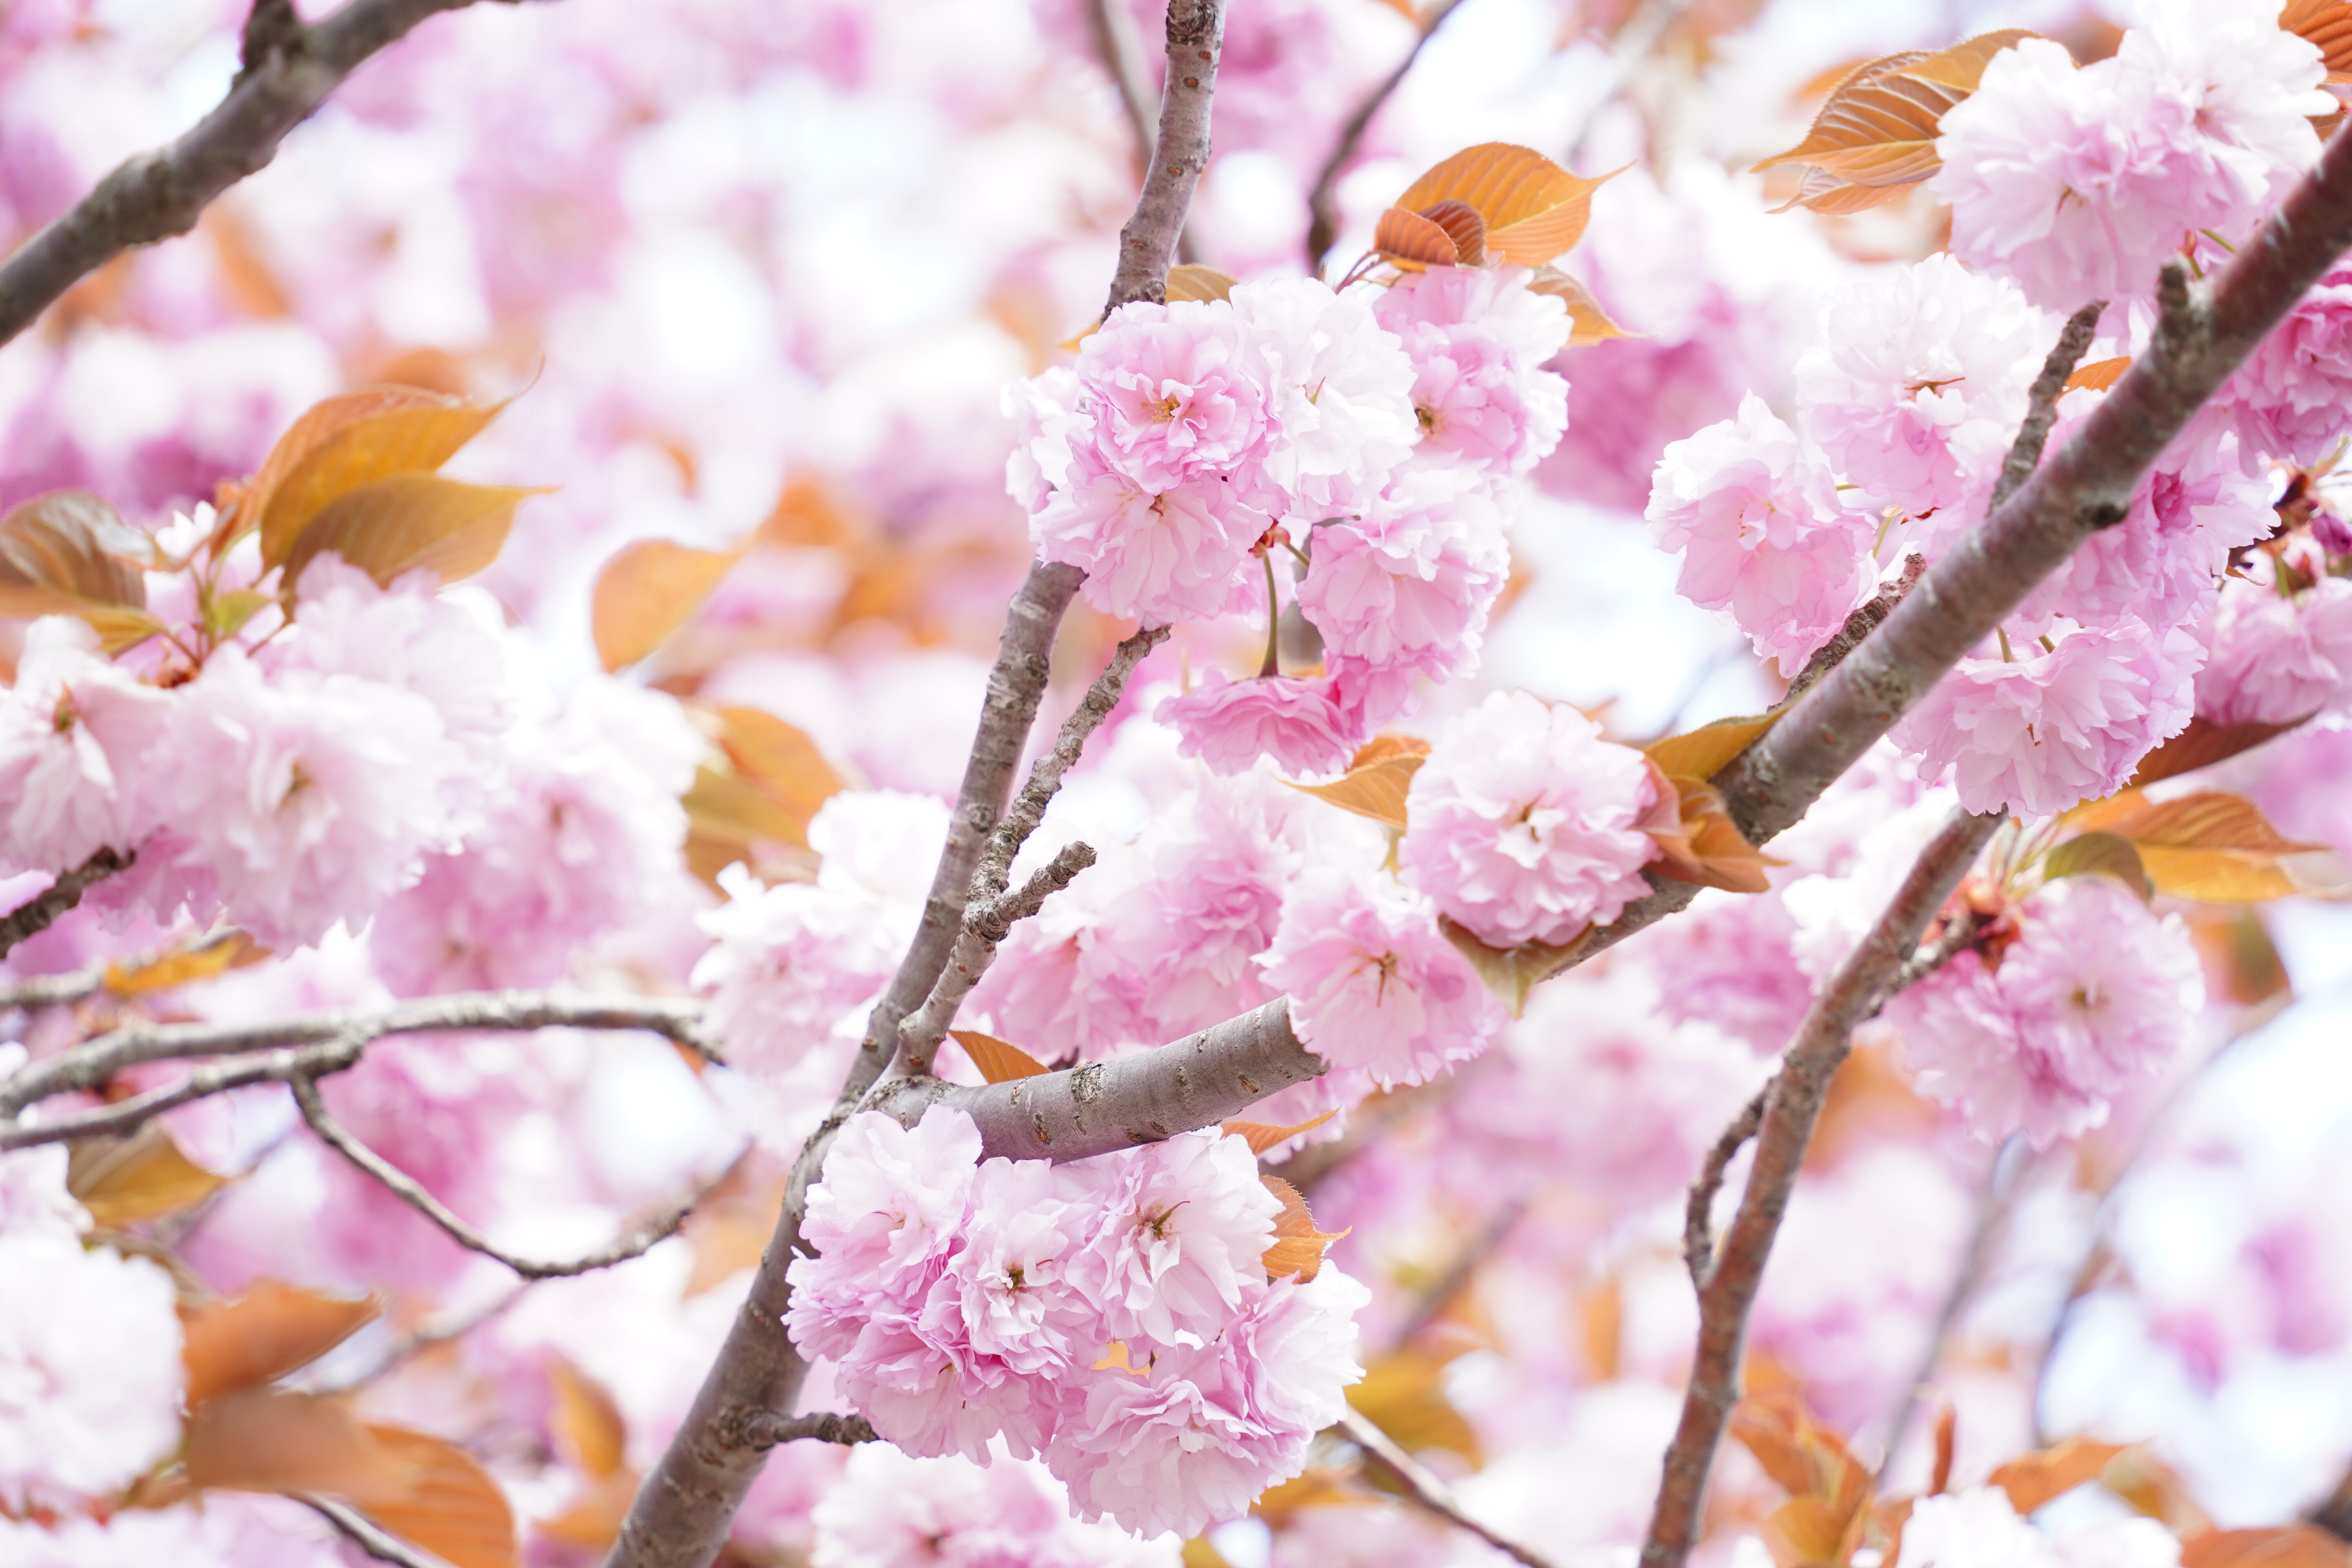
<instances>
[{"instance_id":1,"label":"pink blossom overlapping the thick grey branch, lower left of round pompom","mask_svg":"<svg viewBox=\"0 0 2352 1568\"><path fill-rule=\"evenodd\" d=\"M1395 884L1301 882L1261 964L1289 992L1298 1039L1381 1088L1425 1084L1503 1027L1503 1009L1439 936L1437 910Z\"/></svg>"}]
</instances>

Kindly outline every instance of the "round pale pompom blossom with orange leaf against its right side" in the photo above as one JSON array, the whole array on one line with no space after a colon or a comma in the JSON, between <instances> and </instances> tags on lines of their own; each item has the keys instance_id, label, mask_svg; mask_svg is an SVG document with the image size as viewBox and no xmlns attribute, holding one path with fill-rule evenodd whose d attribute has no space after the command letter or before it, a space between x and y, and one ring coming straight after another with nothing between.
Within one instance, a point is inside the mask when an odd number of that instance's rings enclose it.
<instances>
[{"instance_id":1,"label":"round pale pompom blossom with orange leaf against its right side","mask_svg":"<svg viewBox=\"0 0 2352 1568\"><path fill-rule=\"evenodd\" d=\"M1656 785L1630 745L1526 691L1439 731L1406 792L1404 877L1489 947L1564 943L1649 891Z\"/></svg>"}]
</instances>

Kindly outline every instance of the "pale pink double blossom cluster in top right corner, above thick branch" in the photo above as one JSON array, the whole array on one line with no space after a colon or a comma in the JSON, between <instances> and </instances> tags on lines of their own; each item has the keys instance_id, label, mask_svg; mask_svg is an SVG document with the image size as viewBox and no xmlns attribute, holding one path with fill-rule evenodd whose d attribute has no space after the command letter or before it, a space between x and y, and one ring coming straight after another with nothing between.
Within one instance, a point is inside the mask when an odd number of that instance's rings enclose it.
<instances>
[{"instance_id":1,"label":"pale pink double blossom cluster in top right corner, above thick branch","mask_svg":"<svg viewBox=\"0 0 2352 1568\"><path fill-rule=\"evenodd\" d=\"M2027 38L1943 115L1952 254L2051 310L2154 292L2185 240L2237 244L2319 153L2319 49L2234 0L2164 0L2112 59Z\"/></svg>"}]
</instances>

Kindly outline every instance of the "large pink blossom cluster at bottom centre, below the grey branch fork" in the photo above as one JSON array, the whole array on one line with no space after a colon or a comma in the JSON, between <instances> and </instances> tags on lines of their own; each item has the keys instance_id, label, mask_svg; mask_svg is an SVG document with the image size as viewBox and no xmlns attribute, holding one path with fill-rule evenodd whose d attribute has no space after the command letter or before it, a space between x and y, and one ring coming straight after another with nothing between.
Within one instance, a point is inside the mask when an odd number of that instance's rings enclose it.
<instances>
[{"instance_id":1,"label":"large pink blossom cluster at bottom centre, below the grey branch fork","mask_svg":"<svg viewBox=\"0 0 2352 1568\"><path fill-rule=\"evenodd\" d=\"M809 1192L786 1326L906 1453L1002 1439L1084 1519L1197 1535L1298 1474L1362 1375L1369 1293L1268 1281L1277 1211L1216 1131L1049 1166L983 1161L957 1110L863 1112Z\"/></svg>"}]
</instances>

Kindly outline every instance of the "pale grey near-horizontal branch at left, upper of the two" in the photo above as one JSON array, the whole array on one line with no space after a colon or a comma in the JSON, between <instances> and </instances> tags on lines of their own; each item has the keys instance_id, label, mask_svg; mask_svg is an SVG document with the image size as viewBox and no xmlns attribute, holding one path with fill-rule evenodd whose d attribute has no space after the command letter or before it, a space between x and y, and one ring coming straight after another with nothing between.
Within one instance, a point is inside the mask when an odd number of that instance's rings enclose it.
<instances>
[{"instance_id":1,"label":"pale grey near-horizontal branch at left, upper of the two","mask_svg":"<svg viewBox=\"0 0 2352 1568\"><path fill-rule=\"evenodd\" d=\"M0 1081L0 1117L49 1095L103 1088L125 1067L209 1056L303 1046L358 1037L433 1034L440 1030L647 1030L720 1060L701 1030L703 1004L677 997L562 994L562 992L454 992L423 997L383 1011L296 1013L268 1023L129 1023L111 1034L28 1063ZM256 1081L256 1079L249 1079ZM214 1091L219 1093L219 1091Z\"/></svg>"}]
</instances>

